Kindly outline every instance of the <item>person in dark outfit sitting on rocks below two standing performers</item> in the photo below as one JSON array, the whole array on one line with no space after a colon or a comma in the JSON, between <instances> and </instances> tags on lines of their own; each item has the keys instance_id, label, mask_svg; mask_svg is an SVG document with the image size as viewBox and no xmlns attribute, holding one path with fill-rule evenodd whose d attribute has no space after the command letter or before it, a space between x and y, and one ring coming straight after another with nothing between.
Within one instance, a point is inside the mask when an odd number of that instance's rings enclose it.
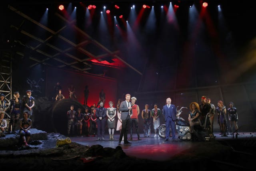
<instances>
[{"instance_id":1,"label":"person in dark outfit sitting on rocks below two standing performers","mask_svg":"<svg viewBox=\"0 0 256 171\"><path fill-rule=\"evenodd\" d=\"M28 146L30 140L31 132L29 129L31 125L32 120L28 119L28 112L23 112L23 118L20 119L20 138L22 138L25 146Z\"/></svg>"}]
</instances>

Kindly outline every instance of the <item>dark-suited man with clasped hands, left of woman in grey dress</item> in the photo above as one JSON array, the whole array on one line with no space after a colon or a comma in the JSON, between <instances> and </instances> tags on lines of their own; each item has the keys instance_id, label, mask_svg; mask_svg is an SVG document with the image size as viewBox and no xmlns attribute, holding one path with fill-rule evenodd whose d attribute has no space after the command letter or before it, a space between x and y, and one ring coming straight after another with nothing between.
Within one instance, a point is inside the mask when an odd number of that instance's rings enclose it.
<instances>
[{"instance_id":1,"label":"dark-suited man with clasped hands, left of woman in grey dress","mask_svg":"<svg viewBox=\"0 0 256 171\"><path fill-rule=\"evenodd\" d=\"M106 116L107 116L107 109L103 107L103 102L100 102L100 107L96 108L96 122L97 122L97 140L105 140L105 126L106 126Z\"/></svg>"}]
</instances>

